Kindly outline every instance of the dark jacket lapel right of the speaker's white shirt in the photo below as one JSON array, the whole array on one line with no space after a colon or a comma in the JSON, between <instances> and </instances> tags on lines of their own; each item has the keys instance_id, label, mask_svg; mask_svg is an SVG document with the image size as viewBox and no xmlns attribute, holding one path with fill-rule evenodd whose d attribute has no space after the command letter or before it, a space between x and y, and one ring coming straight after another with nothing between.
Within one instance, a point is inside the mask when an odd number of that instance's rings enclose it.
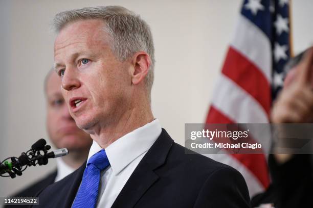
<instances>
[{"instance_id":1,"label":"dark jacket lapel right of the speaker's white shirt","mask_svg":"<svg viewBox=\"0 0 313 208\"><path fill-rule=\"evenodd\" d=\"M173 142L162 128L161 135L130 175L111 208L135 206L144 193L158 180L159 176L154 170L164 164Z\"/></svg>"}]
</instances>

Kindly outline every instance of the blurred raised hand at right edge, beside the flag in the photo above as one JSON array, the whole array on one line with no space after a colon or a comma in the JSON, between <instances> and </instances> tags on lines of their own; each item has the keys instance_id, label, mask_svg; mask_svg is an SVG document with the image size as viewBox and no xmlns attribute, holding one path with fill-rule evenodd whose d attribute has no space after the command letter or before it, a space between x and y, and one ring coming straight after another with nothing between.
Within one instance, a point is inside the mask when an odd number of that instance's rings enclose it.
<instances>
[{"instance_id":1,"label":"blurred raised hand at right edge, beside the flag","mask_svg":"<svg viewBox=\"0 0 313 208\"><path fill-rule=\"evenodd\" d=\"M285 79L284 88L274 102L272 123L313 122L313 47Z\"/></svg>"}]
</instances>

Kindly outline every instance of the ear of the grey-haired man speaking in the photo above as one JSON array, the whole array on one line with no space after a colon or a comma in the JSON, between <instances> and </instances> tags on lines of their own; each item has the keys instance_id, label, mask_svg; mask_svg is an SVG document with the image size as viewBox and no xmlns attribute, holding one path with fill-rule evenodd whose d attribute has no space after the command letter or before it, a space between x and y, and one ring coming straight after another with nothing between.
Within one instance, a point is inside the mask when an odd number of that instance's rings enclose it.
<instances>
[{"instance_id":1,"label":"ear of the grey-haired man speaking","mask_svg":"<svg viewBox=\"0 0 313 208\"><path fill-rule=\"evenodd\" d=\"M138 85L142 82L149 71L151 64L150 56L144 51L139 51L132 57L133 70L131 71L131 83Z\"/></svg>"}]
</instances>

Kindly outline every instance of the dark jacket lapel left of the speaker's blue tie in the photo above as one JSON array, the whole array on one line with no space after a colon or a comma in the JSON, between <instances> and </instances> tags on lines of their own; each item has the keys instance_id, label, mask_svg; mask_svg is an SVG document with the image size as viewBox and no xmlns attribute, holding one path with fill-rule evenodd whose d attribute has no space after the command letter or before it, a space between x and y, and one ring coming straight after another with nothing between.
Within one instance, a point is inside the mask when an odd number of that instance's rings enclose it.
<instances>
[{"instance_id":1,"label":"dark jacket lapel left of the speaker's blue tie","mask_svg":"<svg viewBox=\"0 0 313 208\"><path fill-rule=\"evenodd\" d=\"M60 195L64 196L62 198L65 199L65 203L61 203L62 206L59 206L59 207L67 208L67 207L72 206L72 203L75 199L76 193L77 193L78 188L80 186L80 183L82 180L82 175L84 173L85 167L86 167L86 162L82 166L80 166L80 168L72 176L73 179L69 180L71 184L65 185L65 186L69 186L70 188L69 189L63 189L63 190L66 190L66 192L60 193Z\"/></svg>"}]
</instances>

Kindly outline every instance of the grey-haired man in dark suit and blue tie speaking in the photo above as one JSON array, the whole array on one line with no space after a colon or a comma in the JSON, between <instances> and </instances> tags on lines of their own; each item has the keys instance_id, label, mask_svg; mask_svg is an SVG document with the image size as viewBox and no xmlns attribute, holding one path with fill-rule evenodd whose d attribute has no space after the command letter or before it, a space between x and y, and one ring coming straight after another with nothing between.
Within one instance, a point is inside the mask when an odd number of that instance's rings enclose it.
<instances>
[{"instance_id":1,"label":"grey-haired man in dark suit and blue tie speaking","mask_svg":"<svg viewBox=\"0 0 313 208\"><path fill-rule=\"evenodd\" d=\"M39 193L40 207L250 206L238 171L174 143L154 119L154 47L140 16L83 8L54 26L62 94L94 142L83 166Z\"/></svg>"}]
</instances>

